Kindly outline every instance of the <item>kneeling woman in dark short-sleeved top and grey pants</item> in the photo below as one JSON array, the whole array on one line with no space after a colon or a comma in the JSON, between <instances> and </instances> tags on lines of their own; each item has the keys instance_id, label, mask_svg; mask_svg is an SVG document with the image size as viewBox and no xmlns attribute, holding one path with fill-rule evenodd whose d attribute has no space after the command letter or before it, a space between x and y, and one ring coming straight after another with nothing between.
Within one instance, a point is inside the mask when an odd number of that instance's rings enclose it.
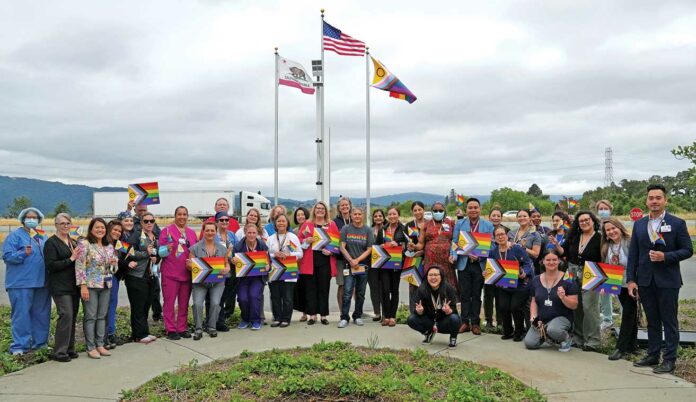
<instances>
[{"instance_id":1,"label":"kneeling woman in dark short-sleeved top and grey pants","mask_svg":"<svg viewBox=\"0 0 696 402\"><path fill-rule=\"evenodd\" d=\"M531 286L532 301L529 309L532 325L524 338L527 349L539 349L544 341L560 343L560 352L571 347L570 331L573 310L578 307L578 289L575 281L564 280L558 270L561 262L557 250L544 256L546 271L534 277Z\"/></svg>"}]
</instances>

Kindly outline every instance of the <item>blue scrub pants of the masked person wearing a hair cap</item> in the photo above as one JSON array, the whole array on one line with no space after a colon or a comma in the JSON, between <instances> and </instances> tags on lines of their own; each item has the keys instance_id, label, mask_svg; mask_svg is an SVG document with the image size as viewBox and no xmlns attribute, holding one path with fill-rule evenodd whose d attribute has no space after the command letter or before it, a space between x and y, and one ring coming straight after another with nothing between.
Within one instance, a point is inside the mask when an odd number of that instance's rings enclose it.
<instances>
[{"instance_id":1,"label":"blue scrub pants of the masked person wearing a hair cap","mask_svg":"<svg viewBox=\"0 0 696 402\"><path fill-rule=\"evenodd\" d=\"M46 347L51 325L51 295L48 288L7 289L12 306L10 353L25 353Z\"/></svg>"}]
</instances>

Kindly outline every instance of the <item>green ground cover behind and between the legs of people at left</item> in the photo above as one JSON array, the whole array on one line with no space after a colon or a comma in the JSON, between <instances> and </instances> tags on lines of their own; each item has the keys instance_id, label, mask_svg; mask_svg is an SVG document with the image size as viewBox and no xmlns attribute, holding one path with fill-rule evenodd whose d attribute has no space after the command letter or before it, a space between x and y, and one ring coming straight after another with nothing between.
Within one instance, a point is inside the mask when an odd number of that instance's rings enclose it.
<instances>
[{"instance_id":1,"label":"green ground cover behind and between the legs of people at left","mask_svg":"<svg viewBox=\"0 0 696 402\"><path fill-rule=\"evenodd\" d=\"M51 311L51 330L48 337L49 345L53 345L56 319L57 313L54 307ZM236 309L235 314L228 319L228 323L230 325L237 325L239 320L239 309ZM193 322L190 310L189 322ZM78 352L84 352L86 348L84 344L84 333L82 331L82 309L80 309L75 328L75 349ZM161 321L150 321L150 334L157 337L164 336L164 324ZM130 339L130 335L130 309L128 307L119 307L116 309L116 336L125 341ZM11 343L10 307L0 306L0 375L12 373L34 364L43 363L51 357L52 349L50 348L36 350L23 356L12 356L9 353Z\"/></svg>"}]
</instances>

